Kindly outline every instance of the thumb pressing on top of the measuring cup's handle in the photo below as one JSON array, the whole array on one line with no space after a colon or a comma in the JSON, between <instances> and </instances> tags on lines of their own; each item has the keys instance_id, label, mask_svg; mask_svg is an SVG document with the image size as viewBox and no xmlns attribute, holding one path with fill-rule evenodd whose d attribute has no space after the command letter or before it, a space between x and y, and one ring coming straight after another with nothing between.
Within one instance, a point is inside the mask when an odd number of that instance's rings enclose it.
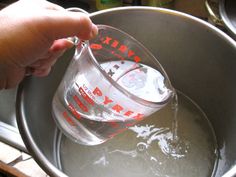
<instances>
[{"instance_id":1,"label":"thumb pressing on top of the measuring cup's handle","mask_svg":"<svg viewBox=\"0 0 236 177\"><path fill-rule=\"evenodd\" d=\"M46 18L47 23L42 21L42 25L44 25L45 35L49 35L52 40L71 36L88 40L98 33L97 26L92 23L89 16L81 12L51 10Z\"/></svg>"}]
</instances>

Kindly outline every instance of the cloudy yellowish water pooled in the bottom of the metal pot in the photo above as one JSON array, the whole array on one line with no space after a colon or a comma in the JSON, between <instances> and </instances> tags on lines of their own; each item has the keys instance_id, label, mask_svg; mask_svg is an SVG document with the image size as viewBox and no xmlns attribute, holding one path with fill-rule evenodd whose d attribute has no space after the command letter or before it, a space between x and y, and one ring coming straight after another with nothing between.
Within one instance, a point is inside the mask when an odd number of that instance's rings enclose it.
<instances>
[{"instance_id":1,"label":"cloudy yellowish water pooled in the bottom of the metal pot","mask_svg":"<svg viewBox=\"0 0 236 177\"><path fill-rule=\"evenodd\" d=\"M174 103L170 102L98 146L79 145L62 136L56 150L62 170L70 177L213 176L218 154L212 126L196 103L177 94L178 131L173 131ZM174 132L178 134L175 150L170 143Z\"/></svg>"}]
</instances>

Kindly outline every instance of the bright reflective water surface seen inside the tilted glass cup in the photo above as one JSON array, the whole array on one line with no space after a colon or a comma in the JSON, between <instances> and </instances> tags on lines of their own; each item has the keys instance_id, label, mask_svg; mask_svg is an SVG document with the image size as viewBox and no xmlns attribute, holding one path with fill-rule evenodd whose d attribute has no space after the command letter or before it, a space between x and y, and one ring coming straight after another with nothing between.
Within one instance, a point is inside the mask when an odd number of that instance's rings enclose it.
<instances>
[{"instance_id":1,"label":"bright reflective water surface seen inside the tilted glass cup","mask_svg":"<svg viewBox=\"0 0 236 177\"><path fill-rule=\"evenodd\" d=\"M111 61L101 66L121 87L146 101L162 102L172 92L165 85L166 78L147 65L132 61Z\"/></svg>"}]
</instances>

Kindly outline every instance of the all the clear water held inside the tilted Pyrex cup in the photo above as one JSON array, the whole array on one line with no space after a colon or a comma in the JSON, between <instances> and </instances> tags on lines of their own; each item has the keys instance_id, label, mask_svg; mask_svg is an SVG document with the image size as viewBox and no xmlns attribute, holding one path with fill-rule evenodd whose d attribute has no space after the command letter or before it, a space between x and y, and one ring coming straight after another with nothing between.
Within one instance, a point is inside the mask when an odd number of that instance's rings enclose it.
<instances>
[{"instance_id":1,"label":"all the clear water held inside the tilted Pyrex cup","mask_svg":"<svg viewBox=\"0 0 236 177\"><path fill-rule=\"evenodd\" d=\"M165 85L164 76L149 66L131 61L110 61L102 63L101 67L113 81L139 99L159 103L172 94ZM64 126L67 135L82 144L100 144L142 119L143 112L140 111L145 110L148 114L156 111L153 103L140 106L135 99L124 97L114 87L103 89L106 83L101 82L102 75L97 74L95 77L96 72L88 70L86 74L78 75L65 94L64 104L57 96L53 100L55 117L62 117L57 120L61 121L59 126Z\"/></svg>"}]
</instances>

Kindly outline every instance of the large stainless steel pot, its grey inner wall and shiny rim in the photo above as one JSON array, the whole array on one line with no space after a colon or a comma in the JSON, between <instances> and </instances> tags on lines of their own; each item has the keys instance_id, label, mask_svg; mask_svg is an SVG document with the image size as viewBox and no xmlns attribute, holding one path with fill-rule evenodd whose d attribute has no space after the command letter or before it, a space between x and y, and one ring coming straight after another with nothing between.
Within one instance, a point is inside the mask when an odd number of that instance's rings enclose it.
<instances>
[{"instance_id":1,"label":"large stainless steel pot, its grey inner wall and shiny rim","mask_svg":"<svg viewBox=\"0 0 236 177\"><path fill-rule=\"evenodd\" d=\"M215 130L220 156L217 177L236 165L236 43L192 16L158 8L125 7L91 14L131 34L160 61L173 86L192 98ZM17 121L30 153L50 176L66 176L58 164L58 136L51 100L73 55L67 52L46 78L29 77L19 86ZM79 176L79 172L73 172ZM236 175L236 172L233 173Z\"/></svg>"}]
</instances>

